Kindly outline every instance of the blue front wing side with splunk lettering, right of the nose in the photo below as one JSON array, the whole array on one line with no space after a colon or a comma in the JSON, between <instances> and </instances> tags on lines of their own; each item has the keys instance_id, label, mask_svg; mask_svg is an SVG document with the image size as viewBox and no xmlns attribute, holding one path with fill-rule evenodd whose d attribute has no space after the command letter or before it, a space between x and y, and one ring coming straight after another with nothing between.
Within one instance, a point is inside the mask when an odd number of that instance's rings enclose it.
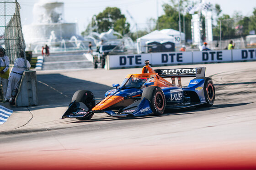
<instances>
[{"instance_id":1,"label":"blue front wing side with splunk lettering, right of the nose","mask_svg":"<svg viewBox=\"0 0 256 170\"><path fill-rule=\"evenodd\" d=\"M153 113L150 108L150 101L147 99L142 99L134 102L132 105L127 106L118 113L112 110L105 110L110 116L144 116Z\"/></svg>"}]
</instances>

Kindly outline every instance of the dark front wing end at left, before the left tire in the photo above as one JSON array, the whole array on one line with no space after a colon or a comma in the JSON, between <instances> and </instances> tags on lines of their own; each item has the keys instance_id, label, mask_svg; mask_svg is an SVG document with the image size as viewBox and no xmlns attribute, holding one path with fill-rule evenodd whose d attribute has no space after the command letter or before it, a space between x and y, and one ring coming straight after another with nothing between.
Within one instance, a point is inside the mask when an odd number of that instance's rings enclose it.
<instances>
[{"instance_id":1,"label":"dark front wing end at left, before the left tire","mask_svg":"<svg viewBox=\"0 0 256 170\"><path fill-rule=\"evenodd\" d=\"M88 112L88 107L82 102L72 102L69 105L68 110L62 116L64 118L81 118L87 117L92 114L92 112Z\"/></svg>"}]
</instances>

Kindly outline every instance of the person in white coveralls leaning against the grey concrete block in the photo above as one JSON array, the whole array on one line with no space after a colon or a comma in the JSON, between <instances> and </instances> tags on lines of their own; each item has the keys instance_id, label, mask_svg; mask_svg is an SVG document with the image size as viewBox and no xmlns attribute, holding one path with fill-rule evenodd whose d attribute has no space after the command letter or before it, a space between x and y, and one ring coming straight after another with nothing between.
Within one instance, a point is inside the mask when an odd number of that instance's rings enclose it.
<instances>
[{"instance_id":1,"label":"person in white coveralls leaning against the grey concrete block","mask_svg":"<svg viewBox=\"0 0 256 170\"><path fill-rule=\"evenodd\" d=\"M29 61L27 60L27 68L30 68L31 65ZM21 58L17 58L14 61L13 68L11 70L11 74L9 77L9 82L8 82L8 87L7 87L7 93L6 97L10 100L11 99L11 93L12 91L16 91L19 89L21 77L23 75L24 70L26 69L25 67L25 59L24 59L24 54L23 52L21 53Z\"/></svg>"}]
</instances>

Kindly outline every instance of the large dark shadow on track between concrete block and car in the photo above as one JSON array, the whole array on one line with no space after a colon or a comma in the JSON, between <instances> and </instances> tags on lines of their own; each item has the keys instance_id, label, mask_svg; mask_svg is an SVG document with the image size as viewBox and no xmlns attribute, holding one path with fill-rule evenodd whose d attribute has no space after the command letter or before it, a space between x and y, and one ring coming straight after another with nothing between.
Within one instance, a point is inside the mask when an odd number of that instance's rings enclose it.
<instances>
[{"instance_id":1,"label":"large dark shadow on track between concrete block and car","mask_svg":"<svg viewBox=\"0 0 256 170\"><path fill-rule=\"evenodd\" d=\"M67 77L61 74L37 75L37 106L15 107L14 111L38 110L44 108L56 108L69 105L72 96L77 90L90 90L96 98L104 98L107 90L113 87Z\"/></svg>"}]
</instances>

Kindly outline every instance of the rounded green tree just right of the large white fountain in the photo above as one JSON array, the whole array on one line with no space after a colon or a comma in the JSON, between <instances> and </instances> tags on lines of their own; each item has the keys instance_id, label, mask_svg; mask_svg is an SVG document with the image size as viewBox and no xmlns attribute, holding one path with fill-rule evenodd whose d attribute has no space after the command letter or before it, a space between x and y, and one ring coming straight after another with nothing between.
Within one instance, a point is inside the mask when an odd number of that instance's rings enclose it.
<instances>
[{"instance_id":1,"label":"rounded green tree just right of the large white fountain","mask_svg":"<svg viewBox=\"0 0 256 170\"><path fill-rule=\"evenodd\" d=\"M94 16L91 23L87 26L85 32L96 31L99 33L107 32L113 29L124 35L129 32L130 24L127 22L125 15L121 14L121 10L117 7L107 7L103 12ZM85 34L85 33L84 33Z\"/></svg>"}]
</instances>

